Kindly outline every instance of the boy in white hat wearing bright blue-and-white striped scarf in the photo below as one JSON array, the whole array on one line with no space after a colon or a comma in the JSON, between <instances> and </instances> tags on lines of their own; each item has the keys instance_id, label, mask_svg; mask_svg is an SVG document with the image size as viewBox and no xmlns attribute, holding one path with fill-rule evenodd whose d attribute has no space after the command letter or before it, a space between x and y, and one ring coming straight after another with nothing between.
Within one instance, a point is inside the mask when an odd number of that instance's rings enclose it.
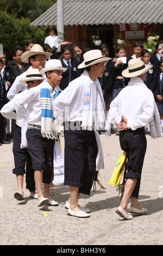
<instances>
[{"instance_id":1,"label":"boy in white hat wearing bright blue-and-white striped scarf","mask_svg":"<svg viewBox=\"0 0 163 256\"><path fill-rule=\"evenodd\" d=\"M47 79L32 90L26 91L15 102L17 114L28 122L27 150L32 159L32 168L35 170L39 206L58 205L58 202L49 198L54 142L58 139L57 132L53 130L52 102L61 92L59 83L64 71L66 68L62 68L60 60L48 60L45 68L41 70L41 74L46 75ZM24 107L26 104L28 110Z\"/></svg>"}]
</instances>

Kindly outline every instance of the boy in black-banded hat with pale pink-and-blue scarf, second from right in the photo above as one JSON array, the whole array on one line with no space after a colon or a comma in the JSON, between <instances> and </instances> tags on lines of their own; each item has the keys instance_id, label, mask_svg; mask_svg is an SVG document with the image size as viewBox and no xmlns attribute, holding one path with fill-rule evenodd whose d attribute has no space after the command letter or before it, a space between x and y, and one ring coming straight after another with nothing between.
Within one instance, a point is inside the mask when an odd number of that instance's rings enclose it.
<instances>
[{"instance_id":1,"label":"boy in black-banded hat with pale pink-and-blue scarf, second from right","mask_svg":"<svg viewBox=\"0 0 163 256\"><path fill-rule=\"evenodd\" d=\"M70 186L70 198L65 204L68 214L89 217L89 209L78 205L79 193L90 194L96 170L103 168L98 132L105 122L105 104L97 77L103 76L105 62L100 50L84 55L78 68L83 74L73 80L53 102L55 118L65 122L65 185ZM96 127L95 127L96 124ZM99 159L101 162L97 162Z\"/></svg>"}]
</instances>

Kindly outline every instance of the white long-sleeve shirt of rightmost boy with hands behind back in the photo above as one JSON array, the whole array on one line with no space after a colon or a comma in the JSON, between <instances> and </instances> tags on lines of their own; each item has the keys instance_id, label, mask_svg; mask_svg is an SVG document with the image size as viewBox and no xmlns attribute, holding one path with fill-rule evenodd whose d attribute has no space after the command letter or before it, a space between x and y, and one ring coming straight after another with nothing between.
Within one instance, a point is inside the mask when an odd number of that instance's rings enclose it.
<instances>
[{"instance_id":1,"label":"white long-sleeve shirt of rightmost boy with hands behind back","mask_svg":"<svg viewBox=\"0 0 163 256\"><path fill-rule=\"evenodd\" d=\"M131 78L128 86L123 88L111 102L108 119L119 125L122 115L128 119L127 126L131 130L146 127L153 119L154 97L151 90L139 77Z\"/></svg>"}]
</instances>

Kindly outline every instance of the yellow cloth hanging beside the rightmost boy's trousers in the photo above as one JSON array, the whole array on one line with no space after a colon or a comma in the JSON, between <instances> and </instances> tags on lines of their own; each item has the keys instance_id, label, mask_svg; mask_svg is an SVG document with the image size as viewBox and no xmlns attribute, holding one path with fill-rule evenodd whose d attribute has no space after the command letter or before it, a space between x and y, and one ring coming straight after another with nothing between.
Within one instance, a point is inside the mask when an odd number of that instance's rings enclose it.
<instances>
[{"instance_id":1,"label":"yellow cloth hanging beside the rightmost boy's trousers","mask_svg":"<svg viewBox=\"0 0 163 256\"><path fill-rule=\"evenodd\" d=\"M108 184L111 184L112 187L117 187L120 184L120 179L124 170L126 163L126 152L123 152L120 158L118 159L114 172L112 173L111 179Z\"/></svg>"}]
</instances>

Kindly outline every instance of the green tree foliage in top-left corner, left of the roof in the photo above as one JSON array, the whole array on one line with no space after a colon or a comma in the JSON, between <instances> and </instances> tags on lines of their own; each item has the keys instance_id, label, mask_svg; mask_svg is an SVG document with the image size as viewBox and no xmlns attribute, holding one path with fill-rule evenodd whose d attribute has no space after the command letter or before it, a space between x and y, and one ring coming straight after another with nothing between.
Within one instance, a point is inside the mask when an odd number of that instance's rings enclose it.
<instances>
[{"instance_id":1,"label":"green tree foliage in top-left corner, left of the roof","mask_svg":"<svg viewBox=\"0 0 163 256\"><path fill-rule=\"evenodd\" d=\"M50 8L57 0L4 0L0 2L0 44L7 53L7 62L16 45L25 46L28 39L42 45L46 28L30 27L30 23Z\"/></svg>"}]
</instances>

